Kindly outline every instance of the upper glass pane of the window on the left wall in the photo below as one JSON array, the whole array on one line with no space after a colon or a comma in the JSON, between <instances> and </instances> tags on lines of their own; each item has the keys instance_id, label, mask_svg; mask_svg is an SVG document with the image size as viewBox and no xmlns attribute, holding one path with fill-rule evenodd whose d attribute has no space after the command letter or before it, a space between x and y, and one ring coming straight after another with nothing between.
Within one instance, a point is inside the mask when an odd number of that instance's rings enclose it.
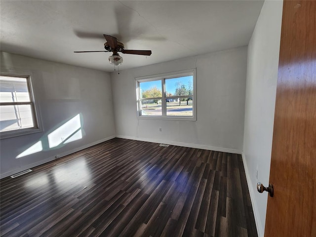
<instances>
[{"instance_id":1,"label":"upper glass pane of the window on the left wall","mask_svg":"<svg viewBox=\"0 0 316 237\"><path fill-rule=\"evenodd\" d=\"M30 102L27 79L1 76L0 102Z\"/></svg>"}]
</instances>

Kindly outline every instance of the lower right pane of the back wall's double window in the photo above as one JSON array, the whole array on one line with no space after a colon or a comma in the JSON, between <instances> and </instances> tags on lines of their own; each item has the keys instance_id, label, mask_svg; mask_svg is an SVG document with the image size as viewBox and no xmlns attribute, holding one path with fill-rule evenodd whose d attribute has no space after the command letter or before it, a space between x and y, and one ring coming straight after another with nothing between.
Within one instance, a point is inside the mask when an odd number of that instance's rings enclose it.
<instances>
[{"instance_id":1,"label":"lower right pane of the back wall's double window","mask_svg":"<svg viewBox=\"0 0 316 237\"><path fill-rule=\"evenodd\" d=\"M166 99L167 116L193 116L192 97Z\"/></svg>"}]
</instances>

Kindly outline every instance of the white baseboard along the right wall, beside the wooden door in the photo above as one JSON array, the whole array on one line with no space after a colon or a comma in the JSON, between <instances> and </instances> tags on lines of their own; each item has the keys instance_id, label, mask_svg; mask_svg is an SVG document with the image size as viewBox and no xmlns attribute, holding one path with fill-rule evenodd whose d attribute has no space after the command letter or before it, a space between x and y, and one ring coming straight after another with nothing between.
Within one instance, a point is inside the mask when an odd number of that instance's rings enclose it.
<instances>
[{"instance_id":1,"label":"white baseboard along the right wall, beside the wooden door","mask_svg":"<svg viewBox=\"0 0 316 237\"><path fill-rule=\"evenodd\" d=\"M261 219L259 216L258 205L257 205L257 201L255 198L254 191L251 188L251 187L253 187L253 184L252 184L251 179L250 179L248 165L247 165L244 153L241 153L241 157L242 157L243 167L244 167L245 173L246 173L246 179L247 179L247 184L248 184L248 189L249 189L249 194L250 194L250 199L251 199L252 210L253 210L253 214L255 217L258 237L264 237L264 231L263 231L262 225L261 225Z\"/></svg>"}]
</instances>

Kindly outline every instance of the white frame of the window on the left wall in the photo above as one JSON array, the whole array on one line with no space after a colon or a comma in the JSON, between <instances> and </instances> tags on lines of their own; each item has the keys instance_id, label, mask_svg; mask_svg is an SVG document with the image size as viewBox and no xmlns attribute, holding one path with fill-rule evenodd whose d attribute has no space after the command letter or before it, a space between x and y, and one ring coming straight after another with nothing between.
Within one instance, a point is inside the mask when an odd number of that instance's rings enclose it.
<instances>
[{"instance_id":1,"label":"white frame of the window on the left wall","mask_svg":"<svg viewBox=\"0 0 316 237\"><path fill-rule=\"evenodd\" d=\"M0 132L0 139L6 139L6 138L11 138L11 137L17 137L17 136L23 136L23 135L33 134L37 132L42 132L40 112L37 109L39 107L35 100L34 90L33 90L33 85L32 85L32 73L29 71L18 71L18 70L12 70L12 69L6 70L6 69L1 68L0 75L6 76L6 77L17 77L17 78L27 79L31 102L18 103L18 104L31 104L31 107L33 110L33 121L34 121L34 127ZM7 105L7 104L10 104L10 103L1 103L1 105Z\"/></svg>"}]
</instances>

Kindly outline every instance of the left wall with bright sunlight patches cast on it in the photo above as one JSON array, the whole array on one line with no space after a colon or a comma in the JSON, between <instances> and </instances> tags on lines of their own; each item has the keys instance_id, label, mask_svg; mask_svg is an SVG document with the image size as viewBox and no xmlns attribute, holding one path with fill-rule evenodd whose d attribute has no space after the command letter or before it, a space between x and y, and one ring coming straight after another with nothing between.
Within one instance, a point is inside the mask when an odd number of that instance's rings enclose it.
<instances>
[{"instance_id":1,"label":"left wall with bright sunlight patches cast on it","mask_svg":"<svg viewBox=\"0 0 316 237\"><path fill-rule=\"evenodd\" d=\"M1 52L9 69L31 72L43 132L0 140L1 178L115 137L110 74ZM82 138L49 148L47 135L78 114ZM41 152L16 158L39 141Z\"/></svg>"}]
</instances>

